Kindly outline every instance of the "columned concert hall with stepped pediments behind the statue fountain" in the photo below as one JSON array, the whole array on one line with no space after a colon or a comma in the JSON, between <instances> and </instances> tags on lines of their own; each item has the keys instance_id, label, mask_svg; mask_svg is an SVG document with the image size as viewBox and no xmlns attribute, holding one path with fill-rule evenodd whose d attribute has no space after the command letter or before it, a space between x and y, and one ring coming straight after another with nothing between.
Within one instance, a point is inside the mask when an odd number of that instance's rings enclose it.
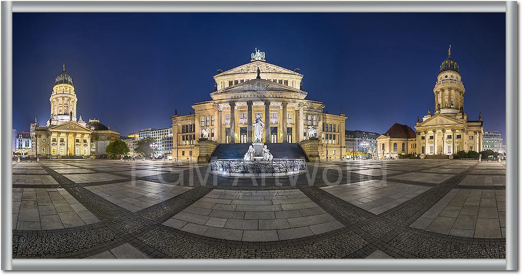
<instances>
[{"instance_id":1,"label":"columned concert hall with stepped pediments behind the statue fountain","mask_svg":"<svg viewBox=\"0 0 522 275\"><path fill-rule=\"evenodd\" d=\"M172 158L195 161L204 128L208 139L218 144L251 144L253 122L260 118L265 124L262 142L268 148L270 144L299 144L309 140L313 131L317 159L344 159L347 117L342 111L328 114L323 102L306 99L299 71L268 63L265 53L257 49L249 63L218 70L211 99L193 104L192 114L176 112L171 118Z\"/></svg>"}]
</instances>

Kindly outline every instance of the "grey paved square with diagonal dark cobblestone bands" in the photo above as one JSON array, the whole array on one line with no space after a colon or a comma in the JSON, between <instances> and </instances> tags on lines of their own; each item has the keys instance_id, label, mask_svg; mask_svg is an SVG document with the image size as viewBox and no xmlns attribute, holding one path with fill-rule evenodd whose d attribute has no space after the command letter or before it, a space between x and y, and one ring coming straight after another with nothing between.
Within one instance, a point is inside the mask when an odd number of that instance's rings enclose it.
<instances>
[{"instance_id":1,"label":"grey paved square with diagonal dark cobblestone bands","mask_svg":"<svg viewBox=\"0 0 522 275\"><path fill-rule=\"evenodd\" d=\"M13 162L14 258L505 258L505 163ZM315 172L313 172L315 171Z\"/></svg>"}]
</instances>

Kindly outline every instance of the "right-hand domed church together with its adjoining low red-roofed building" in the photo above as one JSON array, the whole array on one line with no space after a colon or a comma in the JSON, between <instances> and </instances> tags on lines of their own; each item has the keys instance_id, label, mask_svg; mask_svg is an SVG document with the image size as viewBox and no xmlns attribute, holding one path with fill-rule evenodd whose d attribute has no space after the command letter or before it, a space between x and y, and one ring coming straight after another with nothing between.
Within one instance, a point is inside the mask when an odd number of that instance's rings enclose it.
<instances>
[{"instance_id":1,"label":"right-hand domed church together with its adjoining low red-roofed building","mask_svg":"<svg viewBox=\"0 0 522 275\"><path fill-rule=\"evenodd\" d=\"M399 154L408 153L417 154L421 158L450 158L458 151L482 151L482 115L478 114L478 120L473 121L464 112L466 89L459 65L450 55L448 50L448 57L439 67L433 88L434 112L428 110L422 120L417 117L415 137L411 133L406 135L407 130L399 133L399 129L392 129L395 125L385 135L379 136L379 158L397 158Z\"/></svg>"}]
</instances>

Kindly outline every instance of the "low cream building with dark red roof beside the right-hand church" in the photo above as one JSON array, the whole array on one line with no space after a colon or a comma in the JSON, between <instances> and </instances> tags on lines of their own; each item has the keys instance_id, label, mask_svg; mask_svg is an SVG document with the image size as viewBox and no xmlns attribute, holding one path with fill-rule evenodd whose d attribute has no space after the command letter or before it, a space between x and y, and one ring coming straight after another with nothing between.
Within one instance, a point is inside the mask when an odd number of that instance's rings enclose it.
<instances>
[{"instance_id":1,"label":"low cream building with dark red roof beside the right-hand church","mask_svg":"<svg viewBox=\"0 0 522 275\"><path fill-rule=\"evenodd\" d=\"M394 123L377 138L379 159L397 158L399 154L417 154L417 135L408 125Z\"/></svg>"}]
</instances>

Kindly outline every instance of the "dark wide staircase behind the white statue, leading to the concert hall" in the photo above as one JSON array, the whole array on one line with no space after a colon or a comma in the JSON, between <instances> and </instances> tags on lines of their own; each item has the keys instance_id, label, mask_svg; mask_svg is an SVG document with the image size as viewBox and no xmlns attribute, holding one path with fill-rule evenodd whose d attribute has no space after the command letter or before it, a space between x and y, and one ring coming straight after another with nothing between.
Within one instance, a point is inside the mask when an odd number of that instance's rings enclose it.
<instances>
[{"instance_id":1,"label":"dark wide staircase behind the white statue, leading to the concert hall","mask_svg":"<svg viewBox=\"0 0 522 275\"><path fill-rule=\"evenodd\" d=\"M252 144L220 144L212 154L211 159L242 159L250 145ZM308 161L298 144L268 143L266 146L274 159L304 159Z\"/></svg>"}]
</instances>

